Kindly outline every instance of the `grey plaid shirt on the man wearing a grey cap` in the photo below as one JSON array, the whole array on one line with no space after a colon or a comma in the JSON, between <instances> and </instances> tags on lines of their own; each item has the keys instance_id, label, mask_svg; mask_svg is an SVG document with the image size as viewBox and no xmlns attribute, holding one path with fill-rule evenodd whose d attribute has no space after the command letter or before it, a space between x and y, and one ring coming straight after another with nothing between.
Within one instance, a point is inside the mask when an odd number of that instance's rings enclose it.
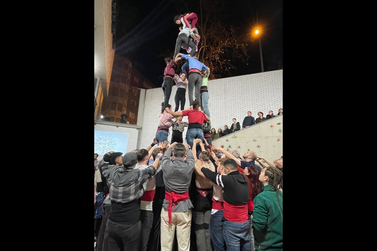
<instances>
[{"instance_id":1,"label":"grey plaid shirt on the man wearing a grey cap","mask_svg":"<svg viewBox=\"0 0 377 251\"><path fill-rule=\"evenodd\" d=\"M155 175L156 169L148 166L146 169L124 169L123 166L109 165L102 168L110 186L110 200L127 203L144 195L143 183Z\"/></svg>"}]
</instances>

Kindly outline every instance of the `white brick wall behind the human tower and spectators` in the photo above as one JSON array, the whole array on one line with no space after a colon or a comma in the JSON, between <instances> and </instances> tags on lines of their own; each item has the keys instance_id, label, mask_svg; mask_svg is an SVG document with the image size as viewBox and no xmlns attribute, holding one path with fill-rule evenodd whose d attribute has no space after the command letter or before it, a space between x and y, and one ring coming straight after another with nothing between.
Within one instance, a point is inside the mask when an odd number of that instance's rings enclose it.
<instances>
[{"instance_id":1,"label":"white brick wall behind the human tower and spectators","mask_svg":"<svg viewBox=\"0 0 377 251\"><path fill-rule=\"evenodd\" d=\"M173 111L176 90L177 88L174 85L169 100ZM219 128L224 130L224 125L230 128L233 118L236 118L242 126L247 111L251 111L251 116L257 118L259 111L264 113L264 117L266 117L269 110L272 110L276 115L279 108L283 108L283 70L210 80L208 81L208 94L211 125L216 131ZM193 99L195 100L195 97ZM155 138L158 117L161 113L161 102L163 101L162 88L146 90L139 148L146 148ZM189 95L186 91L185 108L188 107ZM183 121L188 121L187 117L183 117ZM183 132L184 141L186 131L187 128ZM170 129L168 140L171 139L171 132Z\"/></svg>"}]
</instances>

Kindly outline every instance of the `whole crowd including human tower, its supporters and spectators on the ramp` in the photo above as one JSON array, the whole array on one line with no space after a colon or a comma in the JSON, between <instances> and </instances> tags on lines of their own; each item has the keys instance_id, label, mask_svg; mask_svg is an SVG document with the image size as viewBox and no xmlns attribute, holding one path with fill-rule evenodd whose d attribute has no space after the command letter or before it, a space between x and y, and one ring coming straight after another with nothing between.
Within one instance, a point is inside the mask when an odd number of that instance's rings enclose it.
<instances>
[{"instance_id":1,"label":"whole crowd including human tower, its supporters and spectators on the ramp","mask_svg":"<svg viewBox=\"0 0 377 251\"><path fill-rule=\"evenodd\" d=\"M212 143L274 117L273 111L266 117L258 112L256 119L248 111L242 126L233 118L230 128L211 128L210 68L198 60L197 21L195 13L174 17L179 33L173 58L165 58L164 101L153 142L125 154L107 152L101 161L95 154L95 250L283 249L283 157L270 161L254 151L241 156ZM180 60L186 62L178 75ZM173 81L174 111L169 104ZM280 108L277 115L282 113Z\"/></svg>"}]
</instances>

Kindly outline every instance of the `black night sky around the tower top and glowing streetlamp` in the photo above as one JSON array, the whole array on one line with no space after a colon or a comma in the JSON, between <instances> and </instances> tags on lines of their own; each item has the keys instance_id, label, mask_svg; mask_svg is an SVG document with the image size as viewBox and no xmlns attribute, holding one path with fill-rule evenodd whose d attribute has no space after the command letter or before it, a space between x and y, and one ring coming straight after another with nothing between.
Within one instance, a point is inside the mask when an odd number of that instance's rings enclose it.
<instances>
[{"instance_id":1,"label":"black night sky around the tower top and glowing streetlamp","mask_svg":"<svg viewBox=\"0 0 377 251\"><path fill-rule=\"evenodd\" d=\"M178 25L173 21L174 16L188 10L199 16L199 3L199 0L118 0L115 54L130 59L133 66L152 84L161 87L166 67L164 58L173 56L179 33ZM264 35L261 37L264 71L278 70L271 59L276 55L281 62L283 59L283 1L227 0L225 5L222 15L224 25L240 27L247 33L257 20L264 25ZM237 70L231 70L231 76L261 72L257 40L250 41L248 55L248 65L234 62Z\"/></svg>"}]
</instances>

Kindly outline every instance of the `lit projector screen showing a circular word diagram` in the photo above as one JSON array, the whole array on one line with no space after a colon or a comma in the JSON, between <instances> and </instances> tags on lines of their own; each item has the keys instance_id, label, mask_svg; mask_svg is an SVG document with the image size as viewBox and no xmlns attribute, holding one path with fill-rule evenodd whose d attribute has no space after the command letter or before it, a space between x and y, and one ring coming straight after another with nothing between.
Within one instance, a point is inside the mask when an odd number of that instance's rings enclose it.
<instances>
[{"instance_id":1,"label":"lit projector screen showing a circular word diagram","mask_svg":"<svg viewBox=\"0 0 377 251\"><path fill-rule=\"evenodd\" d=\"M129 132L94 131L94 152L104 155L106 152L126 152Z\"/></svg>"}]
</instances>

